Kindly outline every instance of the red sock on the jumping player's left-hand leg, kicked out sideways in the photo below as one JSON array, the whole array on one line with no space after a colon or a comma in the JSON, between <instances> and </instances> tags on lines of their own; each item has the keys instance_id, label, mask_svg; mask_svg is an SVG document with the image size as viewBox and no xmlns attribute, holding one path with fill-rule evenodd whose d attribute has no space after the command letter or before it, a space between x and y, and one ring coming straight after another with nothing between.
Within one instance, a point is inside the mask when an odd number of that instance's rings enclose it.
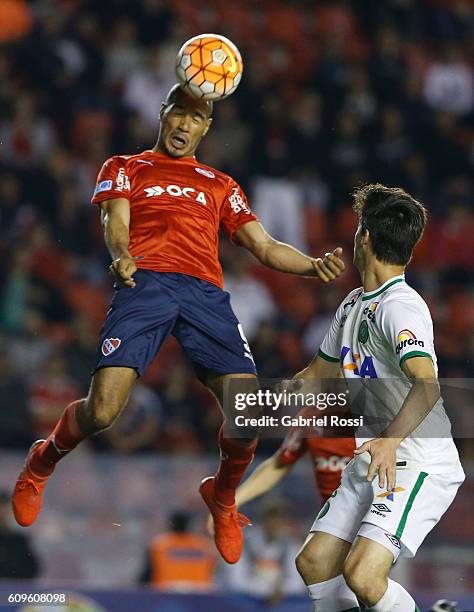
<instances>
[{"instance_id":1,"label":"red sock on the jumping player's left-hand leg, kicked out sideways","mask_svg":"<svg viewBox=\"0 0 474 612\"><path fill-rule=\"evenodd\" d=\"M76 408L80 401L67 406L48 439L32 453L29 468L34 474L50 476L56 463L86 438L76 420Z\"/></svg>"}]
</instances>

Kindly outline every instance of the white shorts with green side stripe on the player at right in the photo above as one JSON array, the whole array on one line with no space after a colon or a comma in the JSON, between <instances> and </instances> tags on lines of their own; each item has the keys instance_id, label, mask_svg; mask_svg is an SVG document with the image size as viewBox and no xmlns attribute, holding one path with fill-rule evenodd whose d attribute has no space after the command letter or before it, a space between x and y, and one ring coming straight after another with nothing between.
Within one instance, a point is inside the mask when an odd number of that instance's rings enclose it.
<instances>
[{"instance_id":1,"label":"white shorts with green side stripe on the player at right","mask_svg":"<svg viewBox=\"0 0 474 612\"><path fill-rule=\"evenodd\" d=\"M367 470L364 475L364 470L358 469L361 457L347 465L340 487L321 508L311 531L323 531L350 543L363 535L384 544L383 537L370 535L367 527L375 525L379 534L385 532L390 552L398 548L402 556L414 557L464 481L460 465L455 466L454 474L430 474L429 468L419 464L397 467L396 486L388 492L379 487L377 477L367 482ZM395 560L397 556L394 554Z\"/></svg>"}]
</instances>

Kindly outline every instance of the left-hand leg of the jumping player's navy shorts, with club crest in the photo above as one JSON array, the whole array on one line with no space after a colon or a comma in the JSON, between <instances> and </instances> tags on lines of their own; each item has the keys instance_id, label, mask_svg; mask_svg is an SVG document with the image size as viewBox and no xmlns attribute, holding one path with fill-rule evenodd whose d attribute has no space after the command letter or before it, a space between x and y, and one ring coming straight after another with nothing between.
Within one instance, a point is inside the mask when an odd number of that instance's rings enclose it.
<instances>
[{"instance_id":1,"label":"left-hand leg of the jumping player's navy shorts, with club crest","mask_svg":"<svg viewBox=\"0 0 474 612\"><path fill-rule=\"evenodd\" d=\"M100 332L94 372L114 366L143 374L173 329L178 305L166 275L138 270L134 278L136 287L116 289Z\"/></svg>"}]
</instances>

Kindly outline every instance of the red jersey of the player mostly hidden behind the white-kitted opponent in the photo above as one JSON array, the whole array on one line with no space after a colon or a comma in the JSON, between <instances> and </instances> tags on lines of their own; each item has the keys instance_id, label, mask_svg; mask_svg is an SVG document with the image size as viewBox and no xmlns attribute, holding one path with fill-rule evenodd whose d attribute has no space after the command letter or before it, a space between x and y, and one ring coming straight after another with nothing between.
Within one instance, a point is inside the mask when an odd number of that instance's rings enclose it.
<instances>
[{"instance_id":1,"label":"red jersey of the player mostly hidden behind the white-kitted opponent","mask_svg":"<svg viewBox=\"0 0 474 612\"><path fill-rule=\"evenodd\" d=\"M324 501L341 484L342 470L354 455L354 438L319 438L308 436L308 429L291 429L280 447L279 459L284 465L293 465L309 452L314 465L314 477Z\"/></svg>"}]
</instances>

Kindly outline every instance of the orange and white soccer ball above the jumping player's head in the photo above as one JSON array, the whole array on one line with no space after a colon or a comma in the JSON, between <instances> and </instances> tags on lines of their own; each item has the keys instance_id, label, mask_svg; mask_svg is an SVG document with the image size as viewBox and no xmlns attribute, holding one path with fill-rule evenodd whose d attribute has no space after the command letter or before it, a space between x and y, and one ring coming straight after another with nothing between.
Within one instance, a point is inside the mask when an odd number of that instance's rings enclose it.
<instances>
[{"instance_id":1,"label":"orange and white soccer ball above the jumping player's head","mask_svg":"<svg viewBox=\"0 0 474 612\"><path fill-rule=\"evenodd\" d=\"M193 98L223 100L242 78L242 57L232 41L220 34L190 38L176 58L176 76Z\"/></svg>"}]
</instances>

